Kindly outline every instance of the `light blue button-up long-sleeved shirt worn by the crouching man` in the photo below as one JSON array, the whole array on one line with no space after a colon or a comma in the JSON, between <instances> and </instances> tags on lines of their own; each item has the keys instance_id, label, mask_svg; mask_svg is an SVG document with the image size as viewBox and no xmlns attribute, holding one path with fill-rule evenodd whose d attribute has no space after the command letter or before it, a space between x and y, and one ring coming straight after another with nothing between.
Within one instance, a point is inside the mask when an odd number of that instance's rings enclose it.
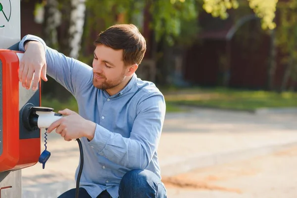
<instances>
[{"instance_id":1,"label":"light blue button-up long-sleeved shirt worn by the crouching man","mask_svg":"<svg viewBox=\"0 0 297 198\"><path fill-rule=\"evenodd\" d=\"M81 138L84 168L80 186L92 198L105 189L117 198L120 181L129 170L147 169L161 178L157 148L166 107L155 85L134 74L123 90L109 96L93 86L92 67L50 49L33 35L21 40L19 50L24 51L26 40L44 45L47 74L75 97L79 114L96 123L94 139ZM75 179L78 169L79 165Z\"/></svg>"}]
</instances>

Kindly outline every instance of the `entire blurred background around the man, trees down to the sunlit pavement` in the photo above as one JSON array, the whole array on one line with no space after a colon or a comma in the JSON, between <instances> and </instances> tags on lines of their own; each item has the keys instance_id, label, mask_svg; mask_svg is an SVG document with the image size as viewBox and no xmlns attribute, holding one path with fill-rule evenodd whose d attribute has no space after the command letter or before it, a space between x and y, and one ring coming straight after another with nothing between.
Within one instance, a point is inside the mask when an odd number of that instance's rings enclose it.
<instances>
[{"instance_id":1,"label":"entire blurred background around the man, trees down to the sunlit pavement","mask_svg":"<svg viewBox=\"0 0 297 198\"><path fill-rule=\"evenodd\" d=\"M144 35L136 73L166 99L158 153L169 198L297 197L297 0L21 0L21 37L90 66L97 35L120 23ZM43 106L77 111L51 78L42 95ZM77 144L57 138L47 170L23 171L25 197L74 187Z\"/></svg>"}]
</instances>

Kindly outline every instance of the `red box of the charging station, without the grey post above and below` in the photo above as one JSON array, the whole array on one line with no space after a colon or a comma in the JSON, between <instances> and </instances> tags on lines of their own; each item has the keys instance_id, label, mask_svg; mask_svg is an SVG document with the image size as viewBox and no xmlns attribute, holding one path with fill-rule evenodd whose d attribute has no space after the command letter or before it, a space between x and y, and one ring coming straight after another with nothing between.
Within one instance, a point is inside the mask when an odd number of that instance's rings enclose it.
<instances>
[{"instance_id":1,"label":"red box of the charging station, without the grey post above and below","mask_svg":"<svg viewBox=\"0 0 297 198\"><path fill-rule=\"evenodd\" d=\"M20 51L0 49L0 172L32 166L40 156L40 129L26 129L22 112L40 106L41 83L37 91L22 87L18 78L22 55Z\"/></svg>"}]
</instances>

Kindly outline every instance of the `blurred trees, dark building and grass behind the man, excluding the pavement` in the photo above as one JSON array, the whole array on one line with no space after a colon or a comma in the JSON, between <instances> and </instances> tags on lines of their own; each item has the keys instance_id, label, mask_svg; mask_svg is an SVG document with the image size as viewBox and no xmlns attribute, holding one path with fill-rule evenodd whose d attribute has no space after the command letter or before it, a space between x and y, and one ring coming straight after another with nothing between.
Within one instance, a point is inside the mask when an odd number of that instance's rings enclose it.
<instances>
[{"instance_id":1,"label":"blurred trees, dark building and grass behind the man, excluding the pavement","mask_svg":"<svg viewBox=\"0 0 297 198\"><path fill-rule=\"evenodd\" d=\"M297 105L296 10L296 0L21 0L21 36L40 36L92 66L97 35L133 23L148 46L140 78L164 94L208 94L168 96L168 111L175 104L288 107ZM47 99L72 101L62 90L51 79L43 84Z\"/></svg>"}]
</instances>

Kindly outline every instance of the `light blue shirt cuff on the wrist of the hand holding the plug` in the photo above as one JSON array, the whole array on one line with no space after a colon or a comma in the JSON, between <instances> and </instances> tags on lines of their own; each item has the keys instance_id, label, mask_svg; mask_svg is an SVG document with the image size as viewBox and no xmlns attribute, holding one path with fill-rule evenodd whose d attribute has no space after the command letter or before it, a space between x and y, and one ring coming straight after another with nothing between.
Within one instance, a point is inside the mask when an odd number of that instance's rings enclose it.
<instances>
[{"instance_id":1,"label":"light blue shirt cuff on the wrist of the hand holding the plug","mask_svg":"<svg viewBox=\"0 0 297 198\"><path fill-rule=\"evenodd\" d=\"M93 140L89 142L89 145L94 148L100 155L103 155L103 148L105 148L108 140L111 137L111 132L107 129L96 124L95 134Z\"/></svg>"}]
</instances>

